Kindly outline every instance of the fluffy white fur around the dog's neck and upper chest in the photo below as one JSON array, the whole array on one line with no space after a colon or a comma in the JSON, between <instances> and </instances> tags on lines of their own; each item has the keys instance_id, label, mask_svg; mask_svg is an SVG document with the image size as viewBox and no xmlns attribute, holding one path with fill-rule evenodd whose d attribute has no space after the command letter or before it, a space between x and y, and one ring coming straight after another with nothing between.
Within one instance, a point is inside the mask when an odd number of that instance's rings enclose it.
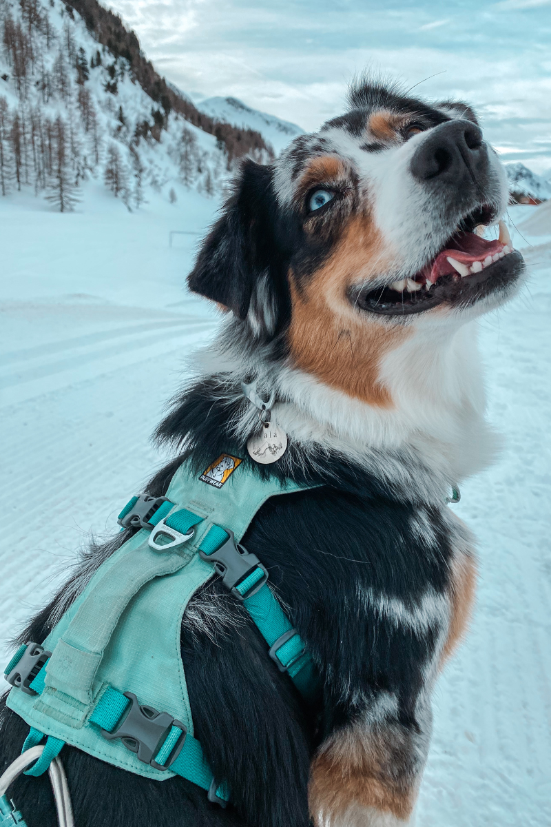
<instances>
[{"instance_id":1,"label":"fluffy white fur around the dog's neck and upper chest","mask_svg":"<svg viewBox=\"0 0 551 827\"><path fill-rule=\"evenodd\" d=\"M233 401L245 377L257 379L266 398L274 391L273 418L305 454L336 453L393 488L433 502L495 455L473 323L421 327L391 351L380 372L392 398L384 408L330 388L261 348L232 347L236 332L230 323L202 351L202 375L221 380L225 398ZM246 442L258 427L257 411L248 402L240 411L231 428Z\"/></svg>"}]
</instances>

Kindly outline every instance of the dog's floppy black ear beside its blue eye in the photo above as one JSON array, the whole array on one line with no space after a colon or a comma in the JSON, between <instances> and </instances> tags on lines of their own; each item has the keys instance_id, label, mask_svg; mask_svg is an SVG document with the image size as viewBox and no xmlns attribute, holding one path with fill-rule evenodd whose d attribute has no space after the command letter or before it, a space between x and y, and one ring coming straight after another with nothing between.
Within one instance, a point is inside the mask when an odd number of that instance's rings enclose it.
<instances>
[{"instance_id":1,"label":"dog's floppy black ear beside its blue eye","mask_svg":"<svg viewBox=\"0 0 551 827\"><path fill-rule=\"evenodd\" d=\"M256 336L273 335L285 303L277 225L272 168L246 160L188 276L194 293L247 319Z\"/></svg>"}]
</instances>

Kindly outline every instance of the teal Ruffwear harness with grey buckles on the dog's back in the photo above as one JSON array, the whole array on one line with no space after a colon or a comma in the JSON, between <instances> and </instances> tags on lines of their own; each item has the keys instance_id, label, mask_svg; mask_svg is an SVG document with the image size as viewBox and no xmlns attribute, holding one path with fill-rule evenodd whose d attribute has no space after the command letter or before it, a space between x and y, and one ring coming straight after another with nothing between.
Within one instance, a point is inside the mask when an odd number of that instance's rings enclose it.
<instances>
[{"instance_id":1,"label":"teal Ruffwear harness with grey buckles on the dog's back","mask_svg":"<svg viewBox=\"0 0 551 827\"><path fill-rule=\"evenodd\" d=\"M184 462L166 498L140 495L126 504L119 523L140 530L99 566L42 646L21 646L7 665L14 687L7 705L31 726L23 751L46 739L27 775L45 772L69 743L141 776L182 776L226 805L230 791L217 784L193 737L183 613L216 571L278 668L303 696L315 694L313 664L268 571L239 545L266 500L306 487L260 480L225 454L199 477Z\"/></svg>"}]
</instances>

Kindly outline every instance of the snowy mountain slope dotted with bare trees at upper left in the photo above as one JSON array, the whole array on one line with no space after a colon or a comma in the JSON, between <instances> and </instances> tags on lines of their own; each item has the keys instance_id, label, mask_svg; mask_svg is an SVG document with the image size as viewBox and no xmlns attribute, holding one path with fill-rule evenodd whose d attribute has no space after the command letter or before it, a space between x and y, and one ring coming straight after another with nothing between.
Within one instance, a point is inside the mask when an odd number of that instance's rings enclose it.
<instances>
[{"instance_id":1,"label":"snowy mountain slope dotted with bare trees at upper left","mask_svg":"<svg viewBox=\"0 0 551 827\"><path fill-rule=\"evenodd\" d=\"M161 78L97 0L0 0L0 35L0 196L64 212L101 181L135 209L148 191L176 198L173 185L213 195L242 155L273 157L259 131Z\"/></svg>"}]
</instances>

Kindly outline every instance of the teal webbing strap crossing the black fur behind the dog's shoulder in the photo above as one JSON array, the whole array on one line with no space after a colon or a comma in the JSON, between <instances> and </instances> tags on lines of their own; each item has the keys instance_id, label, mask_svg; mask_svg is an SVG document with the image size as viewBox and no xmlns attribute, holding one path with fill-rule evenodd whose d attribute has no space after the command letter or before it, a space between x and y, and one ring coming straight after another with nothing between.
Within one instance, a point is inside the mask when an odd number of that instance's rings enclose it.
<instances>
[{"instance_id":1,"label":"teal webbing strap crossing the black fur behind the dog's shoulder","mask_svg":"<svg viewBox=\"0 0 551 827\"><path fill-rule=\"evenodd\" d=\"M202 539L199 551L208 556L218 551L229 537L230 535L223 528L212 525ZM279 638L282 638L286 633L294 632L294 629L266 583L253 595L246 596L263 577L264 571L257 567L235 588L243 596L243 605L254 620L254 624L256 624L270 649L273 649ZM310 656L306 653L306 646L297 632L289 634L287 639L284 639L270 654L278 658L283 667L282 671L287 672L302 696L310 699L316 694L314 666Z\"/></svg>"}]
</instances>

